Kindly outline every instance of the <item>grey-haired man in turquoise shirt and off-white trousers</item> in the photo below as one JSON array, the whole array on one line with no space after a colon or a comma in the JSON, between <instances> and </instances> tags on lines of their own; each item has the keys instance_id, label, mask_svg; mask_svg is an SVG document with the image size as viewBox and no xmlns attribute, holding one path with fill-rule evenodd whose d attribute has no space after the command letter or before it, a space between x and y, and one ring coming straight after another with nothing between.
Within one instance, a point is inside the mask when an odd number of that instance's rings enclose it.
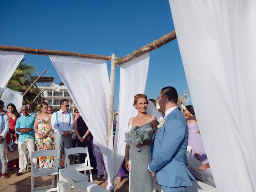
<instances>
[{"instance_id":1,"label":"grey-haired man in turquoise shirt and off-white trousers","mask_svg":"<svg viewBox=\"0 0 256 192\"><path fill-rule=\"evenodd\" d=\"M19 139L18 139L18 150L19 150L19 166L20 170L16 174L16 176L20 176L26 172L26 165L27 165L27 159L26 159L26 146L28 148L28 153L31 156L31 152L35 151L35 146L34 146L34 121L35 117L31 116L28 114L28 108L26 105L22 105L20 108L20 111L22 112L22 116L20 116L15 125L15 132L16 134L19 134ZM32 128L32 130L21 130L17 131L17 128ZM34 158L32 160L34 162L35 167L37 166L37 160Z\"/></svg>"}]
</instances>

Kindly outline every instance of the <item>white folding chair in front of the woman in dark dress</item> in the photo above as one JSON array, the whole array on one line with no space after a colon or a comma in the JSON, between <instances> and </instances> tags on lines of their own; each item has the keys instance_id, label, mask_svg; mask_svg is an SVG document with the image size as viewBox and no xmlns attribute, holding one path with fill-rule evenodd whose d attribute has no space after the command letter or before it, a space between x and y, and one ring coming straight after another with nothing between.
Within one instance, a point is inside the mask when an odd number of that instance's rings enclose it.
<instances>
[{"instance_id":1,"label":"white folding chair in front of the woman in dark dress","mask_svg":"<svg viewBox=\"0 0 256 192\"><path fill-rule=\"evenodd\" d=\"M84 153L86 154L85 162L80 163L80 164L73 164L70 165L70 160L68 159L69 155L76 154L76 153ZM87 170L89 170L90 174L90 181L92 182L92 169L91 163L90 163L90 158L89 158L89 153L88 153L88 148L87 147L75 147L75 148L70 148L70 149L65 149L65 159L66 167L73 167L78 171L84 171L84 174L86 175Z\"/></svg>"}]
</instances>

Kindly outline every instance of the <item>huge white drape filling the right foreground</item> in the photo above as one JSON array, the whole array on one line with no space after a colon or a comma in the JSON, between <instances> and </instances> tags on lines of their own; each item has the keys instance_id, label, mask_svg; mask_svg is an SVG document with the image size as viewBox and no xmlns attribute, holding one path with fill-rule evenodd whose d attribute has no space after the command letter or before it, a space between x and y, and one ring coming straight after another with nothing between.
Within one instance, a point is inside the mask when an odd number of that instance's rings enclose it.
<instances>
[{"instance_id":1,"label":"huge white drape filling the right foreground","mask_svg":"<svg viewBox=\"0 0 256 192\"><path fill-rule=\"evenodd\" d=\"M256 191L256 2L170 0L219 192Z\"/></svg>"}]
</instances>

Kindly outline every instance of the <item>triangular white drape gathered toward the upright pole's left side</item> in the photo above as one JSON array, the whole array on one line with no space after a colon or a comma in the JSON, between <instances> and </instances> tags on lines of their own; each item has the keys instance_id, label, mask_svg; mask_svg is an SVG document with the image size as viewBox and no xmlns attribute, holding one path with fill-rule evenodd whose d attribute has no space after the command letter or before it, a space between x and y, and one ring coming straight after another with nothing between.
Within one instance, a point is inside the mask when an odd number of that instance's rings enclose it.
<instances>
[{"instance_id":1,"label":"triangular white drape gathered toward the upright pole's left side","mask_svg":"<svg viewBox=\"0 0 256 192\"><path fill-rule=\"evenodd\" d=\"M72 100L90 129L104 158L108 171L114 172L112 160L113 134L107 147L109 78L106 61L50 56ZM108 158L107 158L108 154ZM89 154L92 155L92 154Z\"/></svg>"}]
</instances>

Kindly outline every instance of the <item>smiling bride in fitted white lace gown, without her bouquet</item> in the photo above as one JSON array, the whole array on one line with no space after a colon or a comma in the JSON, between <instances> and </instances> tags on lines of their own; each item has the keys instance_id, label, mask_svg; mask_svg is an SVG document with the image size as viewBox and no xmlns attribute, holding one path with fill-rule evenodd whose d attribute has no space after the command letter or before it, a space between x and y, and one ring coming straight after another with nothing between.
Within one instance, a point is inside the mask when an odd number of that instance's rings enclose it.
<instances>
[{"instance_id":1,"label":"smiling bride in fitted white lace gown, without her bouquet","mask_svg":"<svg viewBox=\"0 0 256 192\"><path fill-rule=\"evenodd\" d=\"M134 96L134 107L138 110L136 117L129 120L128 131L132 127L139 126L140 129L150 133L151 140L144 141L137 146L126 145L125 148L125 167L129 174L129 192L154 192L154 178L148 172L148 164L151 161L150 145L157 128L158 121L155 116L146 113L148 99L145 94ZM138 148L141 152L138 152Z\"/></svg>"}]
</instances>

